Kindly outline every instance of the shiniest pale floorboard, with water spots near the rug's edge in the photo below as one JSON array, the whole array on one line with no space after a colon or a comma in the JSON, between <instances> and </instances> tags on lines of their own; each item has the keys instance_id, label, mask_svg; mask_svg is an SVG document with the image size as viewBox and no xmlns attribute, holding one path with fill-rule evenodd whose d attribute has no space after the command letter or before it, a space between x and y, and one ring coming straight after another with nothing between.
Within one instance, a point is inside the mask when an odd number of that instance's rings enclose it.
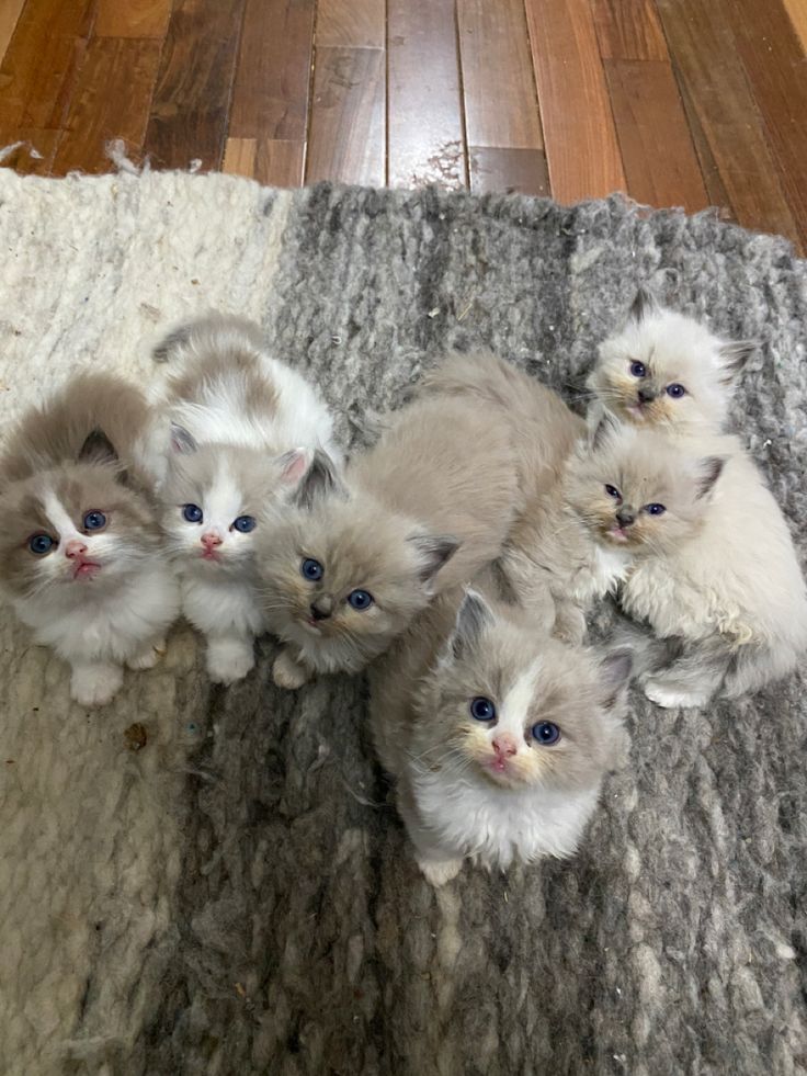
<instances>
[{"instance_id":1,"label":"shiniest pale floorboard, with water spots near the rug's edge","mask_svg":"<svg viewBox=\"0 0 807 1076\"><path fill-rule=\"evenodd\" d=\"M388 182L467 185L454 0L388 0Z\"/></svg>"}]
</instances>

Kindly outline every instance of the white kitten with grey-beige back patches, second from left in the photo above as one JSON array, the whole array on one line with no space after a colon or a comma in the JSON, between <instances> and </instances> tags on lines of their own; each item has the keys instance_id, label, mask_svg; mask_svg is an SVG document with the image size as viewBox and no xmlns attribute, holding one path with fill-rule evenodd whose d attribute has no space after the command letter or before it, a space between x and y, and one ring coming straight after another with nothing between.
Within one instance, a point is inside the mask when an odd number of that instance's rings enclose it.
<instances>
[{"instance_id":1,"label":"white kitten with grey-beige back patches, second from left","mask_svg":"<svg viewBox=\"0 0 807 1076\"><path fill-rule=\"evenodd\" d=\"M332 420L240 318L185 325L155 358L177 367L164 394L172 450L160 498L182 610L206 636L211 679L231 683L254 665L254 638L266 628L254 574L261 513L294 488L317 449L336 451Z\"/></svg>"}]
</instances>

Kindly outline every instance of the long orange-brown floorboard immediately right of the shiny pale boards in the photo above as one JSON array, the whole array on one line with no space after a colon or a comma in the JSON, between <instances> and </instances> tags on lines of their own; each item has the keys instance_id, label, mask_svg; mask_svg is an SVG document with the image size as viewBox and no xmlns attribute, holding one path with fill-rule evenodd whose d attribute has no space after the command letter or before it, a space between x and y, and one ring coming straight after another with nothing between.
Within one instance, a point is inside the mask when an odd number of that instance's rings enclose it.
<instances>
[{"instance_id":1,"label":"long orange-brown floorboard immediately right of the shiny pale boards","mask_svg":"<svg viewBox=\"0 0 807 1076\"><path fill-rule=\"evenodd\" d=\"M588 0L525 0L553 195L625 190L605 73Z\"/></svg>"}]
</instances>

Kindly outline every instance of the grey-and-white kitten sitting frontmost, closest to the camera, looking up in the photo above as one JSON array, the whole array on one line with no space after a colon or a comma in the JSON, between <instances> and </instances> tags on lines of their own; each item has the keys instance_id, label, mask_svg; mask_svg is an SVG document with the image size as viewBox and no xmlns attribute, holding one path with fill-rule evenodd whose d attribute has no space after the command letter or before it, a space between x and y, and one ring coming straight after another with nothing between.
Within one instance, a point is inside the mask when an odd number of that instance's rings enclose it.
<instances>
[{"instance_id":1,"label":"grey-and-white kitten sitting frontmost, closest to the camera, looking up","mask_svg":"<svg viewBox=\"0 0 807 1076\"><path fill-rule=\"evenodd\" d=\"M629 657L566 646L485 591L445 594L371 670L376 749L433 885L466 857L571 856L627 754Z\"/></svg>"}]
</instances>

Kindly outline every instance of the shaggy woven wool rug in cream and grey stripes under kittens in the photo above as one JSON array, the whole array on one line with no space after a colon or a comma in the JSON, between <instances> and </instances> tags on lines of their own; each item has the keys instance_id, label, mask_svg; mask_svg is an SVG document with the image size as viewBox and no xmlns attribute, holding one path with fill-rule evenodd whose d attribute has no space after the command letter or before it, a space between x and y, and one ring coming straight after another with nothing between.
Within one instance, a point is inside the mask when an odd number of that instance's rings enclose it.
<instances>
[{"instance_id":1,"label":"shaggy woven wool rug in cream and grey stripes under kittens","mask_svg":"<svg viewBox=\"0 0 807 1076\"><path fill-rule=\"evenodd\" d=\"M782 240L617 199L128 172L2 172L0 229L3 426L76 366L148 382L166 325L216 307L258 318L355 445L451 346L571 397L648 283L761 342L737 418L807 548L807 271ZM87 712L3 611L0 1072L807 1071L803 677L707 712L635 695L575 860L435 893L364 682L283 694L273 653L211 687L180 626Z\"/></svg>"}]
</instances>

